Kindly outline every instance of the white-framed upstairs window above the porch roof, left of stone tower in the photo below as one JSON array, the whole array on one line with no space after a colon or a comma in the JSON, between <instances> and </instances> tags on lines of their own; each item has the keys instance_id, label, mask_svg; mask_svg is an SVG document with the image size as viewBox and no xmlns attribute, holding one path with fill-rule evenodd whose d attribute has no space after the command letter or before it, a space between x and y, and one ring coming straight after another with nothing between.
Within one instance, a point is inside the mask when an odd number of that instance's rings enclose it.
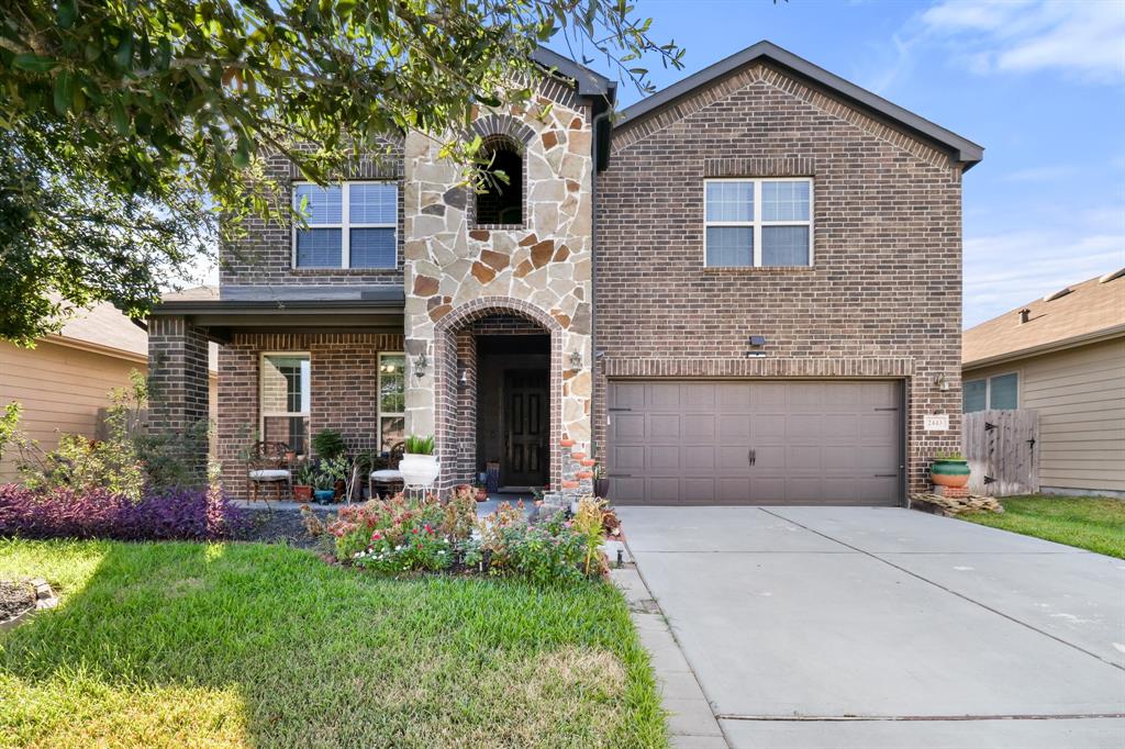
<instances>
[{"instance_id":1,"label":"white-framed upstairs window above the porch roof, left of stone tower","mask_svg":"<svg viewBox=\"0 0 1125 749\"><path fill-rule=\"evenodd\" d=\"M299 183L292 201L307 222L307 227L294 228L294 267L397 267L397 184Z\"/></svg>"}]
</instances>

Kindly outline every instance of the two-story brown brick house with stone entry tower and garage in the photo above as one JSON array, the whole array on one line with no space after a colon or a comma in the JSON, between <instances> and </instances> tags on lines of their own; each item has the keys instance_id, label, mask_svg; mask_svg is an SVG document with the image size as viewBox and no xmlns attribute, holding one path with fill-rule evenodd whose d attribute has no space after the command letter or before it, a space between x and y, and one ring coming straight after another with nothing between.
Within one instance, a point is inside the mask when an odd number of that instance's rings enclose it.
<instances>
[{"instance_id":1,"label":"two-story brown brick house with stone entry tower and garage","mask_svg":"<svg viewBox=\"0 0 1125 749\"><path fill-rule=\"evenodd\" d=\"M324 427L380 451L435 434L442 487L492 467L586 491L577 452L620 503L922 488L960 442L961 177L981 147L766 42L618 117L612 82L536 60L529 110L474 123L503 189L458 187L418 133L327 189L271 160L308 228L252 224L216 296L154 312L154 377L181 394L159 421L202 417L216 341L232 489L254 435L307 452Z\"/></svg>"}]
</instances>

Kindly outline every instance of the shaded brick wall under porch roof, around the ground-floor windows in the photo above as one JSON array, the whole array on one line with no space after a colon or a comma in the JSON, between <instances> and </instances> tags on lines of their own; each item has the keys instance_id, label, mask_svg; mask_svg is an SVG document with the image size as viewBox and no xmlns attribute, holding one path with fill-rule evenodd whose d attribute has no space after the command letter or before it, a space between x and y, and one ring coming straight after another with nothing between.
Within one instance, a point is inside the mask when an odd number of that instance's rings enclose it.
<instances>
[{"instance_id":1,"label":"shaded brick wall under porch roof, around the ground-floor windows","mask_svg":"<svg viewBox=\"0 0 1125 749\"><path fill-rule=\"evenodd\" d=\"M378 354L402 350L400 335L381 333L236 333L218 357L217 452L226 490L236 497L245 490L242 454L260 428L262 353L309 353L309 437L325 427L339 430L358 451L376 446Z\"/></svg>"}]
</instances>

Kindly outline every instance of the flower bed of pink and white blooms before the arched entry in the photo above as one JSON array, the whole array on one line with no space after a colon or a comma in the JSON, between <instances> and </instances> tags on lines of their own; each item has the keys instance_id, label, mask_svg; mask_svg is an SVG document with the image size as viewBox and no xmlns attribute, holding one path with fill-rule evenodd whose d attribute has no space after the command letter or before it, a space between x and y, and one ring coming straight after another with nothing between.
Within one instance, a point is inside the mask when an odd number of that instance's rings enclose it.
<instances>
[{"instance_id":1,"label":"flower bed of pink and white blooms before the arched entry","mask_svg":"<svg viewBox=\"0 0 1125 749\"><path fill-rule=\"evenodd\" d=\"M399 494L343 507L328 523L306 511L309 531L330 534L342 563L380 572L507 575L539 584L576 581L608 569L600 551L604 516L604 504L590 498L573 520L555 513L531 522L522 504L505 503L478 521L471 487L458 487L444 504L432 495Z\"/></svg>"}]
</instances>

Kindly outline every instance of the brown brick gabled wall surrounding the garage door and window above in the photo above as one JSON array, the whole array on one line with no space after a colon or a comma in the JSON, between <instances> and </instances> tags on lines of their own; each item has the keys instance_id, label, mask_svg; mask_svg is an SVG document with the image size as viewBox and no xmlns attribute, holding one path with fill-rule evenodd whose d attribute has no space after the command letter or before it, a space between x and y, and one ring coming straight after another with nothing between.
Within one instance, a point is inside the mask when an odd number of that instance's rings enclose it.
<instances>
[{"instance_id":1,"label":"brown brick gabled wall surrounding the garage door and window above","mask_svg":"<svg viewBox=\"0 0 1125 749\"><path fill-rule=\"evenodd\" d=\"M597 184L597 442L612 377L902 378L909 487L925 490L929 457L961 430L950 155L762 64L624 123L612 150ZM813 177L814 265L705 268L703 180L771 175ZM760 359L752 334L768 341ZM922 431L933 413L948 432Z\"/></svg>"}]
</instances>

